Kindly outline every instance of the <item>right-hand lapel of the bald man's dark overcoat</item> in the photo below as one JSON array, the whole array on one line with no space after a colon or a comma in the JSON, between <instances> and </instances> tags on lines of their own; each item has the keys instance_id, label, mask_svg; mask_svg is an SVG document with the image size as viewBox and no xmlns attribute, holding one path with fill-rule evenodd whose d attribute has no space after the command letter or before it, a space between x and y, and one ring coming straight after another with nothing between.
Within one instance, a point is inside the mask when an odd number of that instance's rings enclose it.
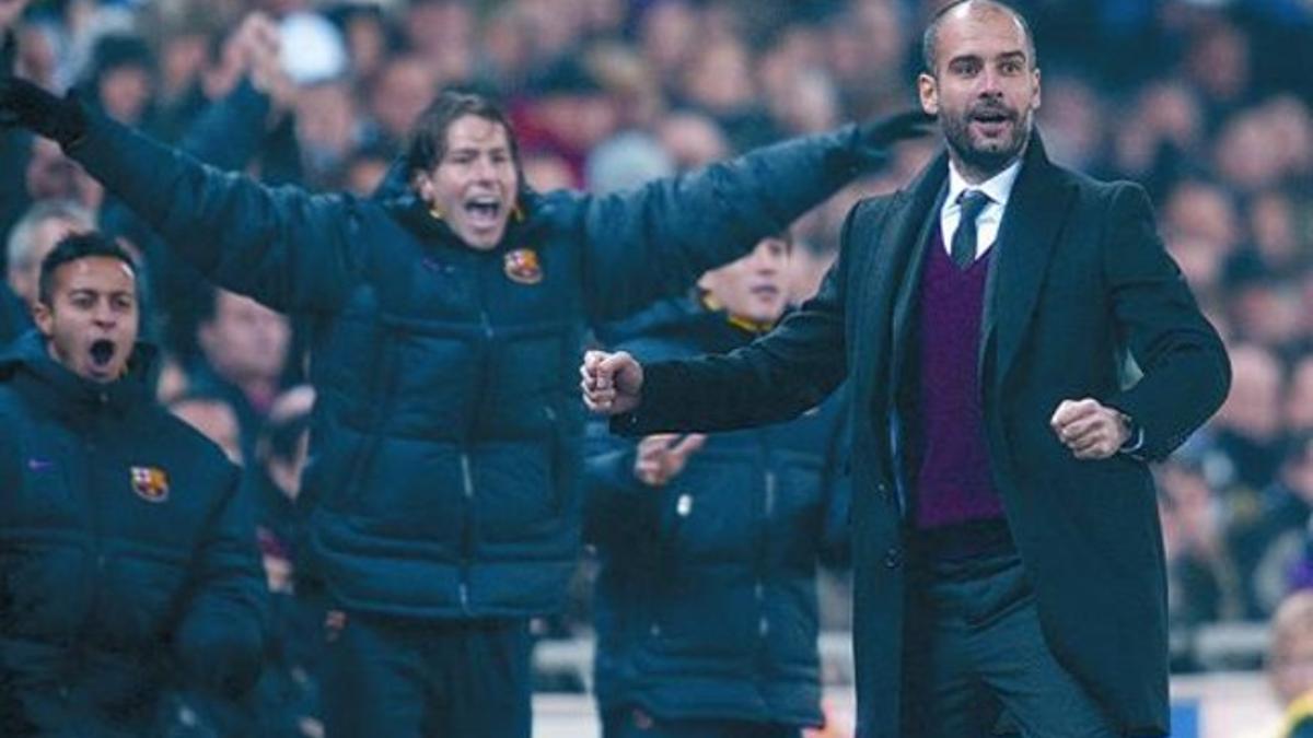
<instances>
[{"instance_id":1,"label":"right-hand lapel of the bald man's dark overcoat","mask_svg":"<svg viewBox=\"0 0 1313 738\"><path fill-rule=\"evenodd\" d=\"M983 370L991 343L997 343L993 381L1002 383L1035 313L1049 257L1071 204L1070 188L1062 186L1056 175L1057 168L1049 163L1035 134L999 226L994 265L985 286L979 353L982 389L990 386Z\"/></svg>"}]
</instances>

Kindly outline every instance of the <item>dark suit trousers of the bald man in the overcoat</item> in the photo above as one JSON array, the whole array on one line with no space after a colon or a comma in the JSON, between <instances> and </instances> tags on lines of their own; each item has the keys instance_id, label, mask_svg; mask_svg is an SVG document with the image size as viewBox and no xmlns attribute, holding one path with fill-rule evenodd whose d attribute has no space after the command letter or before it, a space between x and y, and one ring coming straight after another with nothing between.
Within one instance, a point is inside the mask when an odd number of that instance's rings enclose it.
<instances>
[{"instance_id":1,"label":"dark suit trousers of the bald man in the overcoat","mask_svg":"<svg viewBox=\"0 0 1313 738\"><path fill-rule=\"evenodd\" d=\"M918 562L909 607L905 735L1119 735L1045 645L1015 552Z\"/></svg>"}]
</instances>

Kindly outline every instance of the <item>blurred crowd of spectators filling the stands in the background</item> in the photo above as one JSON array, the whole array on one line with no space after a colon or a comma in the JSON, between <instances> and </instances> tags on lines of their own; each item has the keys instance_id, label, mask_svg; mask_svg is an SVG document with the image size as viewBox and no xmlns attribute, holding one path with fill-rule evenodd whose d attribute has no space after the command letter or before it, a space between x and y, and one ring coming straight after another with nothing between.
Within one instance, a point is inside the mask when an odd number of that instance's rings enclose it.
<instances>
[{"instance_id":1,"label":"blurred crowd of spectators filling the stands in the background","mask_svg":"<svg viewBox=\"0 0 1313 738\"><path fill-rule=\"evenodd\" d=\"M369 197L448 87L507 105L538 189L614 190L906 108L918 33L936 5L56 0L8 18L22 3L0 0L0 24L18 38L18 74L49 89L76 89L215 165ZM1313 587L1313 3L1015 5L1039 45L1048 151L1149 189L1170 252L1232 352L1222 411L1158 470L1174 621L1266 620ZM252 95L270 104L251 105ZM815 289L851 204L899 186L934 150L905 144L880 176L797 225L796 301ZM269 586L289 594L314 402L301 383L309 326L210 289L58 146L0 133L7 307L33 299L59 235L96 222L143 259L148 332L169 358L159 397L246 464ZM583 600L588 587L579 591ZM830 591L842 626L842 587ZM586 603L576 609L548 629L584 628ZM284 676L294 692L305 674Z\"/></svg>"}]
</instances>

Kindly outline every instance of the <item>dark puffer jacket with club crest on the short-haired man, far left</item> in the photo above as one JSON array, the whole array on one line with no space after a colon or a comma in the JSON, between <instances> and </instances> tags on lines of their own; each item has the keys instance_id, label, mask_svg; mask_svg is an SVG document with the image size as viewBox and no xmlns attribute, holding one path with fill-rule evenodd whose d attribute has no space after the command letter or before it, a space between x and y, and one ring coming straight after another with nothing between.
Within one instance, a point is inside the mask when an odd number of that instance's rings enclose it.
<instances>
[{"instance_id":1,"label":"dark puffer jacket with club crest on the short-haired man, far left","mask_svg":"<svg viewBox=\"0 0 1313 738\"><path fill-rule=\"evenodd\" d=\"M97 385L35 331L0 357L0 734L139 734L164 687L259 675L238 470L154 403L144 364Z\"/></svg>"}]
</instances>

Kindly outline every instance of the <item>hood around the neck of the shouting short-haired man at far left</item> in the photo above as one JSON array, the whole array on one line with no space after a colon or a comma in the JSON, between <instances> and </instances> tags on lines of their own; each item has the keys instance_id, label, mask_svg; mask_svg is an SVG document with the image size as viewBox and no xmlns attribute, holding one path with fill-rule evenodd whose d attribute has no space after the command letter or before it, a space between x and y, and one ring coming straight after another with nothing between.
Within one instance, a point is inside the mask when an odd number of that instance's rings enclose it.
<instances>
[{"instance_id":1,"label":"hood around the neck of the shouting short-haired man at far left","mask_svg":"<svg viewBox=\"0 0 1313 738\"><path fill-rule=\"evenodd\" d=\"M51 404L101 406L125 410L151 398L151 377L158 349L147 343L133 348L127 372L113 382L79 377L50 357L46 337L33 328L0 352L0 382L20 381Z\"/></svg>"}]
</instances>

